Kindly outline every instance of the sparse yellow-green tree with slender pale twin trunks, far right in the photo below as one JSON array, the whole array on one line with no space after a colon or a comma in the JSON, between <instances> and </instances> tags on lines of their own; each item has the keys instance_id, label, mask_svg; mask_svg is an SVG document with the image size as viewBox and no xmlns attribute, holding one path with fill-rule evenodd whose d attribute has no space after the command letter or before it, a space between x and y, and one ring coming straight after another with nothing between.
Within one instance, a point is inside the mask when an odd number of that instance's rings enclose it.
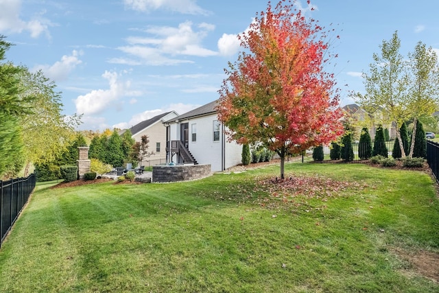
<instances>
[{"instance_id":1,"label":"sparse yellow-green tree with slender pale twin trunks, far right","mask_svg":"<svg viewBox=\"0 0 439 293\"><path fill-rule=\"evenodd\" d=\"M392 39L383 40L381 55L373 54L370 72L363 73L366 94L354 93L357 102L369 113L383 112L382 124L396 125L401 157L412 157L416 142L416 123L419 117L431 115L438 108L439 67L433 49L418 43L407 59L399 53L401 41L397 32ZM405 121L414 121L410 153L403 148L400 127Z\"/></svg>"}]
</instances>

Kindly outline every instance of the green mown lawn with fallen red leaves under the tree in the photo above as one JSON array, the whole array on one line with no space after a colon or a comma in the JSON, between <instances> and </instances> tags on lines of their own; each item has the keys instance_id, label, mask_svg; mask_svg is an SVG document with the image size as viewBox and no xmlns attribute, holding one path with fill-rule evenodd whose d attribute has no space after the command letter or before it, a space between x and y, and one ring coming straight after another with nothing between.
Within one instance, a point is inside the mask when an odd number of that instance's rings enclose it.
<instances>
[{"instance_id":1,"label":"green mown lawn with fallen red leaves under the tree","mask_svg":"<svg viewBox=\"0 0 439 293\"><path fill-rule=\"evenodd\" d=\"M439 292L433 180L287 164L186 183L40 185L0 250L0 292Z\"/></svg>"}]
</instances>

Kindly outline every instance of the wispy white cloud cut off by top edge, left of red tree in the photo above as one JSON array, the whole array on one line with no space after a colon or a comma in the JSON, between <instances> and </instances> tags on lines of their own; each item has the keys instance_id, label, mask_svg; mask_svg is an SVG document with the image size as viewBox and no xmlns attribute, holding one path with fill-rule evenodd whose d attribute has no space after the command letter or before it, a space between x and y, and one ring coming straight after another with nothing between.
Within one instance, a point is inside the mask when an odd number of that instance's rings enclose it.
<instances>
[{"instance_id":1,"label":"wispy white cloud cut off by top edge, left of red tree","mask_svg":"<svg viewBox=\"0 0 439 293\"><path fill-rule=\"evenodd\" d=\"M208 11L200 8L195 0L123 0L126 7L141 12L152 10L170 10L182 14L209 14Z\"/></svg>"}]
</instances>

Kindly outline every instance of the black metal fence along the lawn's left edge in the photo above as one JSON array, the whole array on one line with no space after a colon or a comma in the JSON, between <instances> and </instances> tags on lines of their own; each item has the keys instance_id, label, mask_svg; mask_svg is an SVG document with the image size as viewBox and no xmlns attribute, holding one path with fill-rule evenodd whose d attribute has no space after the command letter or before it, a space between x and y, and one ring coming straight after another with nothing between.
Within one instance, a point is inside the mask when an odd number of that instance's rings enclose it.
<instances>
[{"instance_id":1,"label":"black metal fence along the lawn's left edge","mask_svg":"<svg viewBox=\"0 0 439 293\"><path fill-rule=\"evenodd\" d=\"M0 247L34 190L35 181L35 174L27 178L0 180Z\"/></svg>"}]
</instances>

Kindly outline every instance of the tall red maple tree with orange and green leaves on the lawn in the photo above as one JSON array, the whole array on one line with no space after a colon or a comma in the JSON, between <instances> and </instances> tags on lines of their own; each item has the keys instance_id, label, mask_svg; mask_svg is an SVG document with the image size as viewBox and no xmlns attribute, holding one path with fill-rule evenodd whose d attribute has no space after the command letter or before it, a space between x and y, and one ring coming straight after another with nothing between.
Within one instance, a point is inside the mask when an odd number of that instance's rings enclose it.
<instances>
[{"instance_id":1,"label":"tall red maple tree with orange and green leaves on the lawn","mask_svg":"<svg viewBox=\"0 0 439 293\"><path fill-rule=\"evenodd\" d=\"M281 158L343 133L339 94L324 65L333 57L325 32L295 9L295 0L269 2L247 32L239 35L241 52L219 90L219 120L230 139L263 144ZM308 1L309 4L309 1Z\"/></svg>"}]
</instances>

